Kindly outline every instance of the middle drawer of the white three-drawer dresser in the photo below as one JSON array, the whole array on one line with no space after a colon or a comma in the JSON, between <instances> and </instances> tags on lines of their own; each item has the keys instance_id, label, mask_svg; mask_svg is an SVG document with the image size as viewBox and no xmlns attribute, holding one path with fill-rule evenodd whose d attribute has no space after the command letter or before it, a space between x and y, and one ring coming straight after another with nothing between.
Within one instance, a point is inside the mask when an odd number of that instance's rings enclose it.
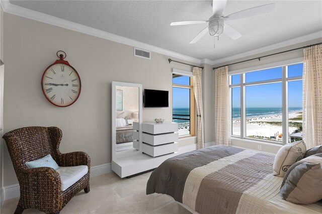
<instances>
[{"instance_id":1,"label":"middle drawer of the white three-drawer dresser","mask_svg":"<svg viewBox=\"0 0 322 214\"><path fill-rule=\"evenodd\" d=\"M168 133L160 135L151 135L143 133L143 143L150 144L152 146L173 143L178 141L178 133Z\"/></svg>"}]
</instances>

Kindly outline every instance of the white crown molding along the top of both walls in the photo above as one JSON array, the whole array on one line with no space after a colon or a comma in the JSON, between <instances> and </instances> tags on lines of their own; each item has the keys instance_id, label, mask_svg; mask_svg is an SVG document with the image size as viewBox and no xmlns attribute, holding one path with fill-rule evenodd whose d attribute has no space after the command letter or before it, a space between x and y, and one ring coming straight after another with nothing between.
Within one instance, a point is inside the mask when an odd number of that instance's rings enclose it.
<instances>
[{"instance_id":1,"label":"white crown molding along the top of both walls","mask_svg":"<svg viewBox=\"0 0 322 214\"><path fill-rule=\"evenodd\" d=\"M315 33L311 33L308 35L304 35L304 36L300 36L300 37L296 37L290 40L286 40L283 42L279 42L273 45L269 45L269 46L265 46L262 48L258 48L258 49L254 49L251 51L247 51L244 53L240 53L240 54L235 54L232 56L228 56L228 57L224 57L224 58L220 58L220 59L216 59L216 60L209 60L209 59L197 59L194 57L190 57L184 54L180 54L174 51L170 51L170 50L166 50L163 48L159 48L153 45L149 45L143 42L139 42L136 40L132 40L132 39L128 39L122 36L118 36L115 34L111 34L111 33L107 33L105 31L101 31L95 28L91 28L85 25L81 25L81 24L77 24L74 22L70 22L67 20L63 20L57 17L53 17L47 14L43 14L40 12L36 12L33 10L29 10L20 6L16 6L13 4L10 4L10 2L8 0L2 0L1 1L1 6L4 10L4 12L6 13L10 13L10 14L14 14L17 16L21 16L21 17L25 17L28 19L32 19L32 20L36 20L39 22L43 22L43 23L47 23L50 25L54 25L54 26L58 26L61 28L65 28L65 29L69 29L72 31L77 31L80 33L84 33L84 34L88 34L91 36L95 36L95 37L99 37L102 39L107 39L113 42L117 42L117 43L121 43L121 44L125 44L125 45L129 45L129 46L133 46L133 47L137 47L137 48L141 48L141 49L145 49L147 51L151 51L151 52L155 52L155 53L159 53L159 54L164 54L167 56L171 56L171 57L175 57L181 60L186 60L189 62L193 62L193 63L197 63L197 64L209 64L209 65L217 65L220 63L224 63L224 62L228 62L228 61L232 61L232 60L236 60L236 59L240 59L240 58L244 58L244 57L248 57L251 55L256 55L256 54L260 54L260 53L264 53L267 51L272 51L275 49L279 49L279 48L284 48L287 46L291 46L291 45L295 45L298 43L302 43L302 42L307 42L309 40L313 40L313 39L318 39L318 38L322 38L322 31L318 31Z\"/></svg>"}]
</instances>

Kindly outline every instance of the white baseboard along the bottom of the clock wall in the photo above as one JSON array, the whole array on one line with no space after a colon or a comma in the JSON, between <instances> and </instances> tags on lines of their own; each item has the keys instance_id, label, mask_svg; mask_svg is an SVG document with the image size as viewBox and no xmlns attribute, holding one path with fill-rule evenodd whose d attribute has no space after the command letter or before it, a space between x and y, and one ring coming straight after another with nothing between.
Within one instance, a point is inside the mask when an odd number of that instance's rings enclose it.
<instances>
[{"instance_id":1,"label":"white baseboard along the bottom of the clock wall","mask_svg":"<svg viewBox=\"0 0 322 214\"><path fill-rule=\"evenodd\" d=\"M214 142L205 143L205 147L212 146ZM188 146L183 146L178 148L179 154L191 152L197 149L196 144L191 144ZM111 163L105 163L98 166L91 167L91 177L96 177L106 173L112 172ZM19 197L20 195L20 186L19 184L13 184L9 186L4 186L1 190L1 207L5 200Z\"/></svg>"}]
</instances>

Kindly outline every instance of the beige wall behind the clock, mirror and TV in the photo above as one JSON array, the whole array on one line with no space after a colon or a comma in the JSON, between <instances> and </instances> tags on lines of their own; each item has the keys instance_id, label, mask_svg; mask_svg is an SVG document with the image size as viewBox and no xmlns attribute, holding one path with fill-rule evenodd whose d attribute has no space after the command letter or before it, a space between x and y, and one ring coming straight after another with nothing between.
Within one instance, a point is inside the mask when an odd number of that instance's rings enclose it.
<instances>
[{"instance_id":1,"label":"beige wall behind the clock, mirror and TV","mask_svg":"<svg viewBox=\"0 0 322 214\"><path fill-rule=\"evenodd\" d=\"M26 126L57 126L63 132L61 152L85 151L92 166L111 162L111 82L141 83L143 88L169 90L169 108L143 109L143 121L172 120L172 68L190 66L133 56L133 47L5 13L5 132ZM41 90L41 76L56 51L78 71L82 93L67 108L50 104ZM182 60L180 60L182 61ZM211 75L211 74L208 74ZM207 116L205 116L207 117ZM211 138L207 138L211 141ZM194 143L182 140L181 145ZM17 183L5 147L4 185Z\"/></svg>"}]
</instances>

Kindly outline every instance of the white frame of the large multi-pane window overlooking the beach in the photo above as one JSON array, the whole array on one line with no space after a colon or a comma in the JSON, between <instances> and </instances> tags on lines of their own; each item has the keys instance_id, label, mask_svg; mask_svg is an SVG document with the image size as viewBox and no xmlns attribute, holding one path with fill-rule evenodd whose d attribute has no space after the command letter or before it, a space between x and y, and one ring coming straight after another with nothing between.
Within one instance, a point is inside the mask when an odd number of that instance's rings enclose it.
<instances>
[{"instance_id":1,"label":"white frame of the large multi-pane window overlooking the beach","mask_svg":"<svg viewBox=\"0 0 322 214\"><path fill-rule=\"evenodd\" d=\"M288 82L290 81L297 81L297 80L303 80L302 76L296 76L296 77L288 77L288 66L294 65L294 64L300 64L303 63L303 58L296 58L292 60L287 60L283 62L276 62L271 63L268 65L261 65L253 68L248 69L240 69L236 71L228 72L229 75L229 100L230 100L230 110L232 110L232 88L234 87L240 87L240 136L232 135L232 129L231 129L231 138L234 139L243 139L243 140L249 140L249 141L257 141L262 143L269 143L269 144L276 144L276 145L285 145L289 143L289 138L282 138L282 144L277 141L269 141L269 140L262 140L262 139L256 139L256 138L249 138L246 135L246 86L250 85L261 85L261 84L269 84L269 83L282 83L282 133L289 133L289 127L288 127ZM260 71L260 70L267 70L274 67L282 67L282 78L279 79L270 79L270 80L261 80L256 82L246 82L246 73L253 72L253 71ZM256 69L257 68L257 69ZM240 82L239 84L231 84L232 82L232 75L240 75ZM232 112L230 115L232 119ZM232 125L232 123L231 123ZM231 126L230 125L230 126ZM288 136L288 135L287 135Z\"/></svg>"}]
</instances>

